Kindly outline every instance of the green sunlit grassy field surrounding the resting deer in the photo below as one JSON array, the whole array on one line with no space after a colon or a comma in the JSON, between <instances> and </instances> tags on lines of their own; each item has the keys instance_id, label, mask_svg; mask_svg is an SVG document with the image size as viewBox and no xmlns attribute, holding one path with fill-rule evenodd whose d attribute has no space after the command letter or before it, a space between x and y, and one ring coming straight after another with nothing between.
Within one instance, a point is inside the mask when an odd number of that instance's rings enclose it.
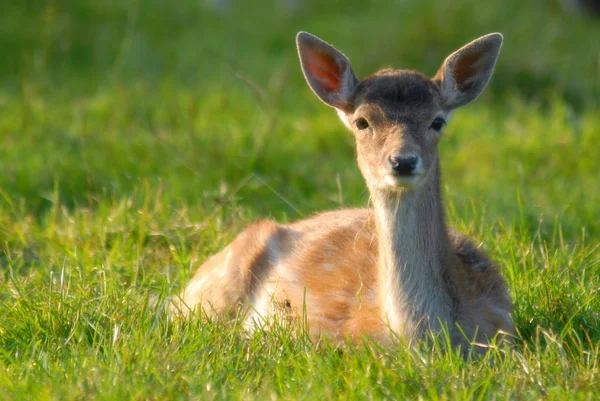
<instances>
[{"instance_id":1,"label":"green sunlit grassy field surrounding the resting deer","mask_svg":"<svg viewBox=\"0 0 600 401\"><path fill-rule=\"evenodd\" d=\"M0 399L600 398L600 21L558 2L10 2L0 13ZM339 352L163 305L251 221L365 206L294 35L359 76L435 73L491 31L440 147L448 219L514 299L511 352Z\"/></svg>"}]
</instances>

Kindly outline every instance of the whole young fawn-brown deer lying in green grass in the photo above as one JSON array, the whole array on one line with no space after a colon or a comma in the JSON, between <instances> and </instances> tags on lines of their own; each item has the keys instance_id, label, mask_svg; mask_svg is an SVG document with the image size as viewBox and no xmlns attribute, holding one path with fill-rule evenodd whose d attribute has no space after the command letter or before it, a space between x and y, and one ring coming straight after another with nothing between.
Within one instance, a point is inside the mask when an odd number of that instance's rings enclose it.
<instances>
[{"instance_id":1,"label":"whole young fawn-brown deer lying in green grass","mask_svg":"<svg viewBox=\"0 0 600 401\"><path fill-rule=\"evenodd\" d=\"M204 262L171 312L237 316L248 331L303 314L311 338L383 346L428 333L447 333L463 351L510 344L507 284L483 250L447 227L438 155L452 113L487 86L502 41L491 33L468 43L433 78L382 69L360 80L344 54L298 33L309 87L354 135L370 206L250 225Z\"/></svg>"}]
</instances>

